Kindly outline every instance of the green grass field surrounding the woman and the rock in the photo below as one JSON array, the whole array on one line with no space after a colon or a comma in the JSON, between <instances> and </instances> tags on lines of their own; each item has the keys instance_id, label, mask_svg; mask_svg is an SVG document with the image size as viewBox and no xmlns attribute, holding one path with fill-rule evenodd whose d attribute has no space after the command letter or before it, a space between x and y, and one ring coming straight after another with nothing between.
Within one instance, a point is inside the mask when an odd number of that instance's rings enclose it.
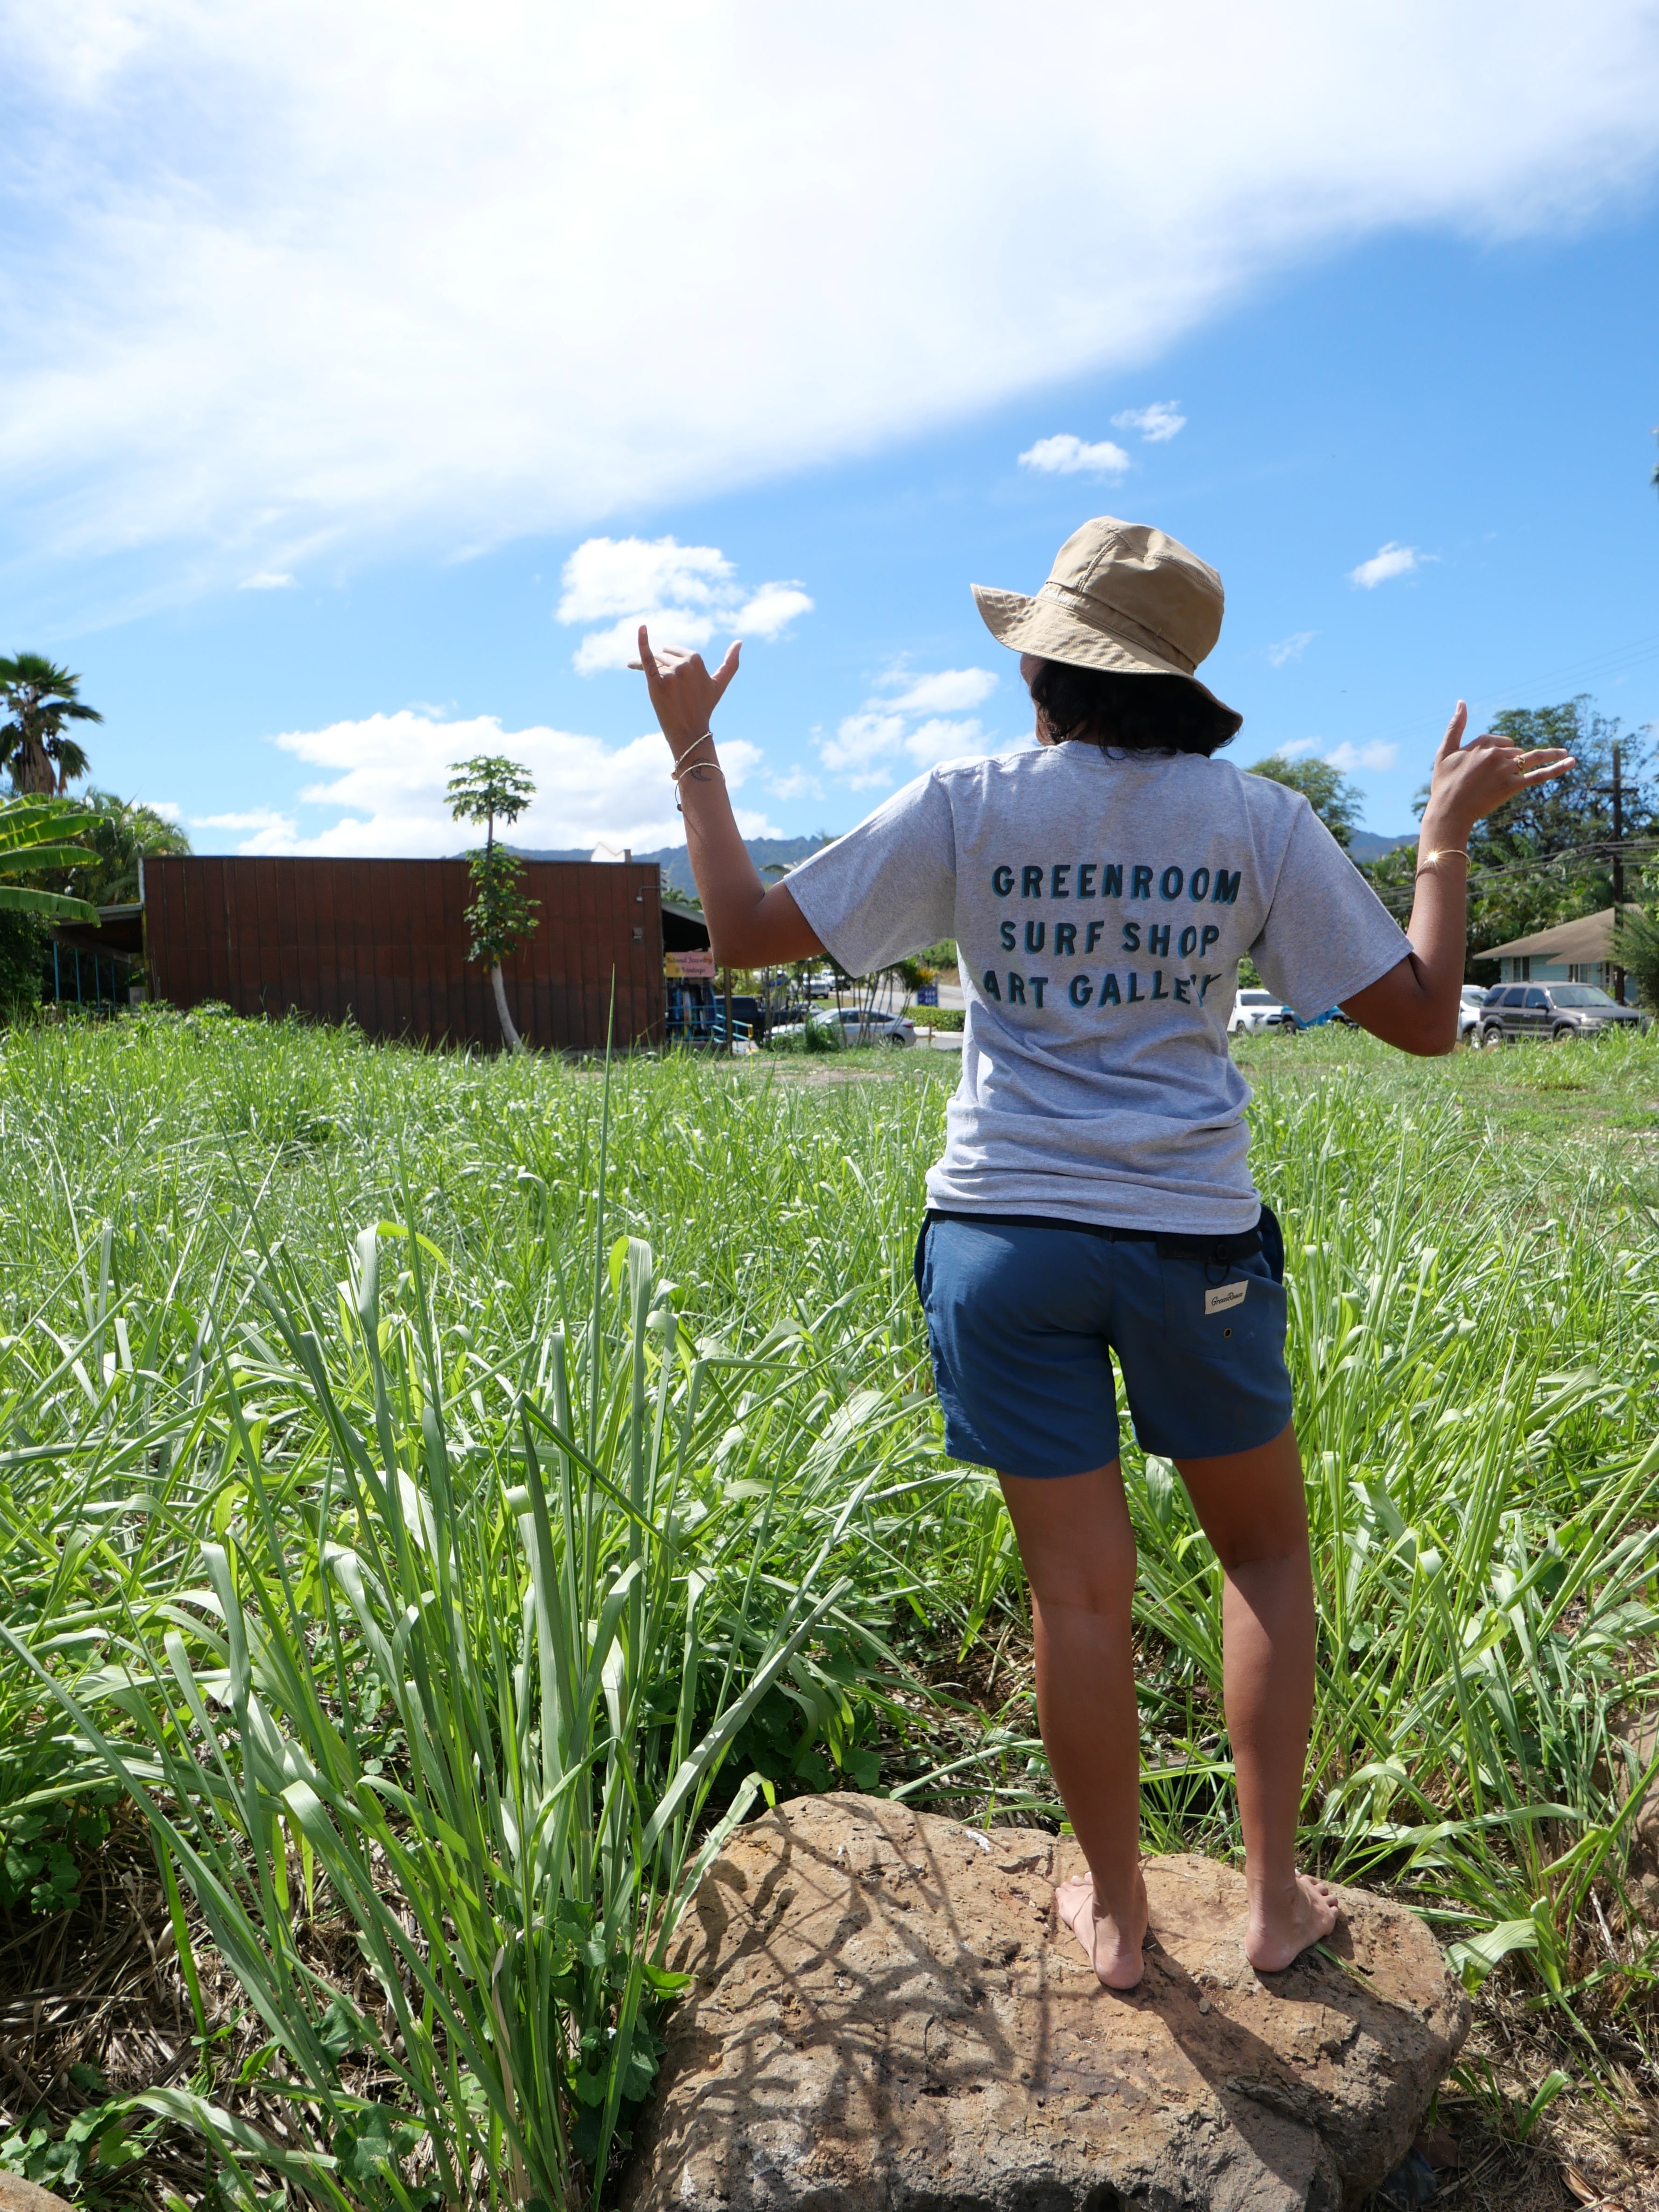
<instances>
[{"instance_id":1,"label":"green grass field surrounding the woman and the rock","mask_svg":"<svg viewBox=\"0 0 1659 2212\"><path fill-rule=\"evenodd\" d=\"M1467 2201L1637 2192L1659 1040L1241 1060L1323 1606L1307 1856L1478 1991ZM0 2163L584 2203L723 1823L1057 1818L909 1287L951 1077L0 1035ZM1230 1854L1214 1562L1128 1471L1148 1843Z\"/></svg>"}]
</instances>

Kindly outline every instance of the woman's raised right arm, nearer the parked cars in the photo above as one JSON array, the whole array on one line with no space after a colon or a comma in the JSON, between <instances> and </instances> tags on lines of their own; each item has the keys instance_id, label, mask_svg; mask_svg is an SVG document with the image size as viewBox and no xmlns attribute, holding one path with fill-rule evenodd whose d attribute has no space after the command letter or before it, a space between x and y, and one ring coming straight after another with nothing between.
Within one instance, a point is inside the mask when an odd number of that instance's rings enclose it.
<instances>
[{"instance_id":1,"label":"woman's raised right arm, nearer the parked cars","mask_svg":"<svg viewBox=\"0 0 1659 2212\"><path fill-rule=\"evenodd\" d=\"M1343 1000L1343 1013L1402 1053L1431 1057L1458 1042L1458 993L1469 945L1469 832L1531 783L1573 765L1555 745L1522 748L1506 737L1462 743L1469 708L1447 726L1433 757L1429 805L1418 832L1418 876L1407 936L1411 951L1374 984Z\"/></svg>"}]
</instances>

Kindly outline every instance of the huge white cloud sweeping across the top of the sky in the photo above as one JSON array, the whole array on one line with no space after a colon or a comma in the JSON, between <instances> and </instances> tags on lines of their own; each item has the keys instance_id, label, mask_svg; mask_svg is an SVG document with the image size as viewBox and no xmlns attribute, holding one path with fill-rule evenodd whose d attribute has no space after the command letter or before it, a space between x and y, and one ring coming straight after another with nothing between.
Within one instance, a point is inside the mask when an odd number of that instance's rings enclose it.
<instances>
[{"instance_id":1,"label":"huge white cloud sweeping across the top of the sky","mask_svg":"<svg viewBox=\"0 0 1659 2212\"><path fill-rule=\"evenodd\" d=\"M1139 369L1365 237L1584 223L1659 153L1650 0L1192 0L1179 69L1157 9L1053 0L1040 102L991 0L947 40L876 0L4 24L20 619L730 495Z\"/></svg>"}]
</instances>

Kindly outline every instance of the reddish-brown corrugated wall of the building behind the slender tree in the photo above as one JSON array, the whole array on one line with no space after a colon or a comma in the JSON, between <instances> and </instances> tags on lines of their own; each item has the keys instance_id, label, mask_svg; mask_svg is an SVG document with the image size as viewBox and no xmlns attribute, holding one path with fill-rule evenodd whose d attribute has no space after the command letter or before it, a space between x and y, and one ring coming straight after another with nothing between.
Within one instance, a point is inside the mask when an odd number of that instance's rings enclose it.
<instances>
[{"instance_id":1,"label":"reddish-brown corrugated wall of the building behind the slender tree","mask_svg":"<svg viewBox=\"0 0 1659 2212\"><path fill-rule=\"evenodd\" d=\"M615 969L617 1044L661 1037L661 889L655 863L526 860L538 929L504 962L529 1044L602 1048ZM150 991L175 1006L323 1022L376 1037L500 1044L484 969L467 960L465 860L144 863Z\"/></svg>"}]
</instances>

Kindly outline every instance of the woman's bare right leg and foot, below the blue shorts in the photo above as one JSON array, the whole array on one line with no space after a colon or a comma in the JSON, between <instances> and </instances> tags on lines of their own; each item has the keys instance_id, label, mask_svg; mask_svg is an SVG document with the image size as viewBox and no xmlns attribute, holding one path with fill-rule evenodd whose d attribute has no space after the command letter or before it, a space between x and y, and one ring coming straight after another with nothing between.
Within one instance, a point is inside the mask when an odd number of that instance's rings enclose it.
<instances>
[{"instance_id":1,"label":"woman's bare right leg and foot, below the blue shorts","mask_svg":"<svg viewBox=\"0 0 1659 2212\"><path fill-rule=\"evenodd\" d=\"M1245 1838L1252 1966L1276 1973L1336 1927L1327 1882L1296 1871L1314 1719L1314 1573L1296 1431L1217 1460L1177 1460L1223 1573L1225 1705Z\"/></svg>"}]
</instances>

